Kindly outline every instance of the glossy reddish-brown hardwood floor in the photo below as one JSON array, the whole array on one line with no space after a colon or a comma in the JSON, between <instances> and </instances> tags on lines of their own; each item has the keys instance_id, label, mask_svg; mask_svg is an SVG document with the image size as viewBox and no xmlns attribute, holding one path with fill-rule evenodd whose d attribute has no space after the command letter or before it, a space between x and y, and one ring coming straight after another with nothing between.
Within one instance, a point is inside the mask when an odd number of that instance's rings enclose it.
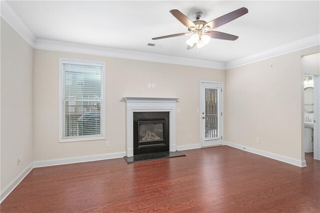
<instances>
[{"instance_id":1,"label":"glossy reddish-brown hardwood floor","mask_svg":"<svg viewBox=\"0 0 320 213\"><path fill-rule=\"evenodd\" d=\"M320 212L320 161L300 168L228 146L126 164L34 168L1 212Z\"/></svg>"}]
</instances>

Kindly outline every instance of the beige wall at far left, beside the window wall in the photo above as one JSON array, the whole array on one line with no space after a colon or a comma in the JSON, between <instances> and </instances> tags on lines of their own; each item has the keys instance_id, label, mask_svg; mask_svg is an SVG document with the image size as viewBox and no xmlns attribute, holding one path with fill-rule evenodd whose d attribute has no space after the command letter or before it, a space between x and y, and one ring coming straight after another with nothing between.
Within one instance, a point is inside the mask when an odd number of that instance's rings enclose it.
<instances>
[{"instance_id":1,"label":"beige wall at far left, beside the window wall","mask_svg":"<svg viewBox=\"0 0 320 213\"><path fill-rule=\"evenodd\" d=\"M1 19L1 190L33 161L32 70L33 48Z\"/></svg>"}]
</instances>

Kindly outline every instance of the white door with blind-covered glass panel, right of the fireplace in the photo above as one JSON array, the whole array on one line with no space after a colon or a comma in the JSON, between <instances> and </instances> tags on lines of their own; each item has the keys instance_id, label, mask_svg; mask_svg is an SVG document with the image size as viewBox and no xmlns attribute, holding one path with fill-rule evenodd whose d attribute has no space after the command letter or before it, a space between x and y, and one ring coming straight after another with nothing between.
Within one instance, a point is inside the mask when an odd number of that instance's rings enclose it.
<instances>
[{"instance_id":1,"label":"white door with blind-covered glass panel, right of the fireplace","mask_svg":"<svg viewBox=\"0 0 320 213\"><path fill-rule=\"evenodd\" d=\"M200 120L201 146L222 144L221 84L201 82Z\"/></svg>"}]
</instances>

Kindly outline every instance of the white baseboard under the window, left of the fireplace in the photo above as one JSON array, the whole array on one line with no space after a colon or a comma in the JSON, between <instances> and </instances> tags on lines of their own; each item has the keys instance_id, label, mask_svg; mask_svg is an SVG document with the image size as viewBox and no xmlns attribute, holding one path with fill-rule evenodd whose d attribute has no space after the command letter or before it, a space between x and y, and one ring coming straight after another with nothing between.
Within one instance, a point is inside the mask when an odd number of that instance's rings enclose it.
<instances>
[{"instance_id":1,"label":"white baseboard under the window, left of the fireplace","mask_svg":"<svg viewBox=\"0 0 320 213\"><path fill-rule=\"evenodd\" d=\"M40 160L34 161L33 167L43 167L50 165L62 165L69 163L77 163L77 162L88 162L95 160L104 160L104 159L112 159L119 158L125 156L125 152L114 152L107 154L96 154L96 155L88 155L88 156L80 156L80 157L67 157L67 158L59 158L59 159L51 159L51 160Z\"/></svg>"}]
</instances>

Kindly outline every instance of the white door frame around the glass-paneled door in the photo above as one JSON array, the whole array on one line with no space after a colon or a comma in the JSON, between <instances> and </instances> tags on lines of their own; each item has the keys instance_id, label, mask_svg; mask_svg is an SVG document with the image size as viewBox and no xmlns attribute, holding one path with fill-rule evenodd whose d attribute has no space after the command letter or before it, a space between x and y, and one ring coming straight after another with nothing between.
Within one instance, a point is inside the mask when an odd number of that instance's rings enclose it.
<instances>
[{"instance_id":1,"label":"white door frame around the glass-paneled door","mask_svg":"<svg viewBox=\"0 0 320 213\"><path fill-rule=\"evenodd\" d=\"M201 96L202 96L202 83L215 83L215 84L220 84L221 85L221 112L222 112L222 116L221 116L221 121L220 121L220 128L221 128L221 136L222 136L222 139L221 139L221 145L225 145L225 138L224 138L224 104L223 104L223 91L224 91L224 87L223 87L223 82L222 81L209 81L209 80L200 80L200 85L199 85L199 87L200 87L200 92L199 92L199 106L200 106L200 108L199 108L199 124L200 124L200 141L199 141L199 143L200 143L200 146L201 146L201 148L202 148L202 141L203 141L203 139L204 138L202 138L202 136L203 136L203 134L202 134L202 124L201 124L201 122L202 122L202 114L201 114L201 108L202 108L202 106L203 106L203 103L202 103L202 101L201 101ZM203 147L210 147L210 146L203 146Z\"/></svg>"}]
</instances>

